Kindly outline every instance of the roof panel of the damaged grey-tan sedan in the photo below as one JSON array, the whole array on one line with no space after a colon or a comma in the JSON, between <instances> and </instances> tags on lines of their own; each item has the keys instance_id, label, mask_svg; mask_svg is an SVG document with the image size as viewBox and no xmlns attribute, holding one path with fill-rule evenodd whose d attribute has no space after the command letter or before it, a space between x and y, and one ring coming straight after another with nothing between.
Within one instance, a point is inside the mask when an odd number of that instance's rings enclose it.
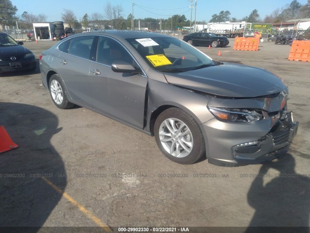
<instances>
[{"instance_id":1,"label":"roof panel of the damaged grey-tan sedan","mask_svg":"<svg viewBox=\"0 0 310 233\"><path fill-rule=\"evenodd\" d=\"M151 33L151 32L138 31L138 30L99 30L99 31L87 32L87 33L78 33L76 35L80 35L80 34L102 34L102 35L110 35L116 38L120 37L124 39L149 38L149 37L170 37L165 34Z\"/></svg>"}]
</instances>

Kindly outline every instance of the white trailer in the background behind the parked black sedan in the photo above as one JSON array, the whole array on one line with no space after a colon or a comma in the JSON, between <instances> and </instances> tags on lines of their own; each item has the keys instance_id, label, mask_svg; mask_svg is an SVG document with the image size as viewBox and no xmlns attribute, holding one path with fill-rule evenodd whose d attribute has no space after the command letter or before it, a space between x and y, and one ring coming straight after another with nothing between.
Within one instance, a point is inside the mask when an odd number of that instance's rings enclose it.
<instances>
[{"instance_id":1,"label":"white trailer in the background behind the parked black sedan","mask_svg":"<svg viewBox=\"0 0 310 233\"><path fill-rule=\"evenodd\" d=\"M218 36L236 37L242 36L246 22L225 22L225 23L208 23L204 30L207 33L214 33Z\"/></svg>"}]
</instances>

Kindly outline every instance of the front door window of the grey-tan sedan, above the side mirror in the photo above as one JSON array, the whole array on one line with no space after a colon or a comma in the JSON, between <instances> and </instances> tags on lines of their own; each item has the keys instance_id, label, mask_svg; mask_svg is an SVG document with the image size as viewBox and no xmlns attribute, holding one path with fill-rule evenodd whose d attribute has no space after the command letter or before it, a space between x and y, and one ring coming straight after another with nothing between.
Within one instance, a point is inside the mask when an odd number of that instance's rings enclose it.
<instances>
[{"instance_id":1,"label":"front door window of the grey-tan sedan, above the side mirror","mask_svg":"<svg viewBox=\"0 0 310 233\"><path fill-rule=\"evenodd\" d=\"M115 62L126 62L133 65L133 58L124 47L116 40L105 36L99 37L96 61L108 65Z\"/></svg>"}]
</instances>

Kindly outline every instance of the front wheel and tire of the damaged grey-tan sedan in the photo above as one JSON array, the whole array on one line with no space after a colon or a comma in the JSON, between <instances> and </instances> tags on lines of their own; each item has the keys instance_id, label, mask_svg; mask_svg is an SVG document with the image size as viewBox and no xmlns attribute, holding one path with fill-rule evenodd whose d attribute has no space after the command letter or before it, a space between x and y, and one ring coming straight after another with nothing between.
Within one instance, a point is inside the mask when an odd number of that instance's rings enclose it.
<instances>
[{"instance_id":1,"label":"front wheel and tire of the damaged grey-tan sedan","mask_svg":"<svg viewBox=\"0 0 310 233\"><path fill-rule=\"evenodd\" d=\"M182 109L163 111L155 121L154 134L161 152L176 163L193 164L205 154L198 123Z\"/></svg>"}]
</instances>

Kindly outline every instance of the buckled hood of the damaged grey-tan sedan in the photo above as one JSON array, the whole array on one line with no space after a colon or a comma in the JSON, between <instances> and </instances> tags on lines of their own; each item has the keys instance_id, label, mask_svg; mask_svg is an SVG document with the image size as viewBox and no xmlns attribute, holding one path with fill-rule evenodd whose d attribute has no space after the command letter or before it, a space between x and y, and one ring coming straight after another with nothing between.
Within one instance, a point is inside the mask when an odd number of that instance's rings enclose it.
<instances>
[{"instance_id":1,"label":"buckled hood of the damaged grey-tan sedan","mask_svg":"<svg viewBox=\"0 0 310 233\"><path fill-rule=\"evenodd\" d=\"M171 84L223 97L251 98L286 90L271 72L243 65L224 64L183 73L165 73Z\"/></svg>"}]
</instances>

